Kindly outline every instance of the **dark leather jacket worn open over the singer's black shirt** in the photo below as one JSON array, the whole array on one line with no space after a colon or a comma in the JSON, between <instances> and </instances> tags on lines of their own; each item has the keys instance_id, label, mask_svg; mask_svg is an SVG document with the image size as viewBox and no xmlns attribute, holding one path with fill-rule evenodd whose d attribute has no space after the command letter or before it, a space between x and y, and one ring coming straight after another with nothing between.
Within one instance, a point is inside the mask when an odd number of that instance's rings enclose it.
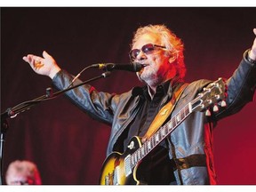
<instances>
[{"instance_id":1,"label":"dark leather jacket worn open over the singer's black shirt","mask_svg":"<svg viewBox=\"0 0 256 192\"><path fill-rule=\"evenodd\" d=\"M222 108L211 118L202 112L194 112L169 137L170 158L174 159L174 172L178 184L203 185L215 184L216 175L212 156L212 129L215 123L225 116L239 111L244 105L252 101L256 85L256 67L246 60L248 51L239 67L227 81L228 98L227 108ZM61 70L53 78L53 84L60 90L68 87L73 76ZM77 80L75 84L79 84ZM193 100L203 87L211 83L208 80L198 80L191 84L182 93L172 116L177 114L189 101ZM165 96L162 106L172 98L172 88ZM85 113L105 124L112 125L108 142L107 156L113 152L116 140L132 122L140 108L140 95L124 92L123 94L109 94L98 92L91 85L85 84L69 91L68 97ZM198 164L189 163L191 156L200 156ZM203 161L203 162L202 162ZM182 164L180 164L180 162ZM194 164L194 165L193 165ZM201 164L201 165L200 165Z\"/></svg>"}]
</instances>

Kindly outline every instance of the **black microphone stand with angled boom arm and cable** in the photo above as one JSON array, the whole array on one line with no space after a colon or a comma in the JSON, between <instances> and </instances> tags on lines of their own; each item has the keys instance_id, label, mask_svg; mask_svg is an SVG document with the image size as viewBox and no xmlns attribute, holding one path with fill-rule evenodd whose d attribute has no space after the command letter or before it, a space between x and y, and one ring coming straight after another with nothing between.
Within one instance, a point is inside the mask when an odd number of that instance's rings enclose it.
<instances>
[{"instance_id":1,"label":"black microphone stand with angled boom arm and cable","mask_svg":"<svg viewBox=\"0 0 256 192\"><path fill-rule=\"evenodd\" d=\"M3 173L3 169L4 169L4 141L5 141L5 134L7 132L7 130L9 129L9 125L7 123L7 118L14 118L16 117L20 112L24 112L25 110L28 110L29 108L35 106L36 104L40 103L41 101L45 101L45 100L52 100L54 98L56 98L58 95L64 93L64 92L68 92L69 90L75 89L78 86L81 86L83 84L88 84L92 81L95 81L97 79L100 79L102 77L107 77L110 75L110 71L106 71L105 73L102 73L100 76L95 76L87 81L82 82L81 84L76 84L74 86L71 86L67 89L61 90L59 92L54 92L52 93L52 88L47 88L46 89L46 94L42 95L39 98L36 98L35 100L28 100L25 102L22 102L20 104L18 104L17 106L13 107L13 108L7 108L4 113L1 114L1 141L0 141L0 172L1 172L1 176L0 176L0 185L4 184L4 173Z\"/></svg>"}]
</instances>

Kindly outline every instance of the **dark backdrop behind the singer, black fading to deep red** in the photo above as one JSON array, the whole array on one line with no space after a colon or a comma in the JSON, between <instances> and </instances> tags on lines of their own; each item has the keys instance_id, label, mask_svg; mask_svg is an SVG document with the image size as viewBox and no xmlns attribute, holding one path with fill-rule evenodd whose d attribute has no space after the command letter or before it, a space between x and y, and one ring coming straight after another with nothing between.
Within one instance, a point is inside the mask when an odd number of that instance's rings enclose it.
<instances>
[{"instance_id":1,"label":"dark backdrop behind the singer, black fading to deep red","mask_svg":"<svg viewBox=\"0 0 256 192\"><path fill-rule=\"evenodd\" d=\"M128 62L132 34L147 24L165 24L183 40L188 82L229 77L252 46L255 12L247 7L2 8L1 112L51 86L50 78L36 75L22 60L24 55L45 50L74 75L92 63ZM91 69L81 79L101 72ZM138 84L135 74L123 71L92 83L116 93ZM255 107L249 103L214 130L219 184L256 184ZM44 184L98 183L110 129L65 97L40 103L8 123L4 173L13 160L27 159L37 164Z\"/></svg>"}]
</instances>

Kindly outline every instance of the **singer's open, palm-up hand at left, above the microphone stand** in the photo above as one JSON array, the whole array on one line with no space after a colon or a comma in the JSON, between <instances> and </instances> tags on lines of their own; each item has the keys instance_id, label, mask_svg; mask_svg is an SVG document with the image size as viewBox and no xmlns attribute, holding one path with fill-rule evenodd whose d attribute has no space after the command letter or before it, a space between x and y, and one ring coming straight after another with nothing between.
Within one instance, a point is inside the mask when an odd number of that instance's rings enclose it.
<instances>
[{"instance_id":1,"label":"singer's open, palm-up hand at left, above the microphone stand","mask_svg":"<svg viewBox=\"0 0 256 192\"><path fill-rule=\"evenodd\" d=\"M23 57L23 60L28 62L30 67L39 75L50 76L53 78L60 71L60 67L56 61L45 51L43 52L43 58L28 54Z\"/></svg>"}]
</instances>

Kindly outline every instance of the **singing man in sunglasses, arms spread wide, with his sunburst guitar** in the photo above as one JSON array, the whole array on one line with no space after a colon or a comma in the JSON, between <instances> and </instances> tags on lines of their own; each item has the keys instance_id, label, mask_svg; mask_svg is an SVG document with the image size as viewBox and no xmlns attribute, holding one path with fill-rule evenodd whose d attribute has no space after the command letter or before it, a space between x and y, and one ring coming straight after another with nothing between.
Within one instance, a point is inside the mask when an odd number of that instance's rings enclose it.
<instances>
[{"instance_id":1,"label":"singing man in sunglasses, arms spread wide, with his sunburst guitar","mask_svg":"<svg viewBox=\"0 0 256 192\"><path fill-rule=\"evenodd\" d=\"M253 33L256 35L256 28ZM256 87L256 38L252 47L244 55L241 53L242 60L234 74L223 81L224 86L217 86L224 87L219 92L225 96L221 99L224 103L217 100L219 93L211 100L206 97L195 101L202 96L203 88L212 91L213 81L184 82L183 49L180 38L164 25L138 28L129 55L132 62L146 65L136 72L145 86L109 94L86 84L67 93L87 114L111 125L100 184L217 183L212 131L218 120L252 101ZM50 76L60 90L73 80L47 52L43 52L43 57L28 54L23 60L37 74ZM74 84L80 82L76 79ZM204 105L200 105L201 101L205 101ZM208 103L209 107L203 109Z\"/></svg>"}]
</instances>

